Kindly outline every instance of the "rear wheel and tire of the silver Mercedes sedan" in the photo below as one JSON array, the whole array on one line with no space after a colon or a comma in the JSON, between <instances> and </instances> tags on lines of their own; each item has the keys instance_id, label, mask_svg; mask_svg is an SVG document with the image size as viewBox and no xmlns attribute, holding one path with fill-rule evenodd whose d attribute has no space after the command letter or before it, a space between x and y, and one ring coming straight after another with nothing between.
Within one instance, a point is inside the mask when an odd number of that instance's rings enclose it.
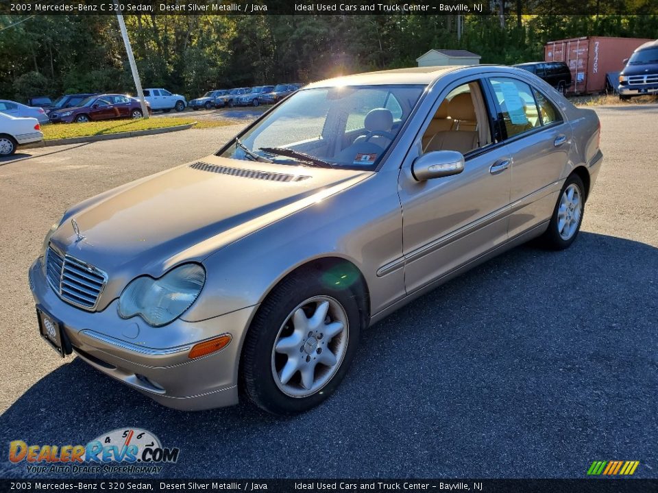
<instances>
[{"instance_id":1,"label":"rear wheel and tire of the silver Mercedes sedan","mask_svg":"<svg viewBox=\"0 0 658 493\"><path fill-rule=\"evenodd\" d=\"M550 250L568 249L581 230L584 212L585 186L581 177L572 174L560 190L548 229L539 237L541 246Z\"/></svg>"}]
</instances>

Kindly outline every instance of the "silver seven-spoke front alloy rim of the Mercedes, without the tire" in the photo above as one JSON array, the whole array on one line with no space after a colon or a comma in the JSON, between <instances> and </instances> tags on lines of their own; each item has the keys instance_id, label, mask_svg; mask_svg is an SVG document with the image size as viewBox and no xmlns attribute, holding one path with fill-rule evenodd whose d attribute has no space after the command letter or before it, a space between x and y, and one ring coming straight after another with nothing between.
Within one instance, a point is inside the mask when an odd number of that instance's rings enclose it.
<instances>
[{"instance_id":1,"label":"silver seven-spoke front alloy rim of the Mercedes, without the tire","mask_svg":"<svg viewBox=\"0 0 658 493\"><path fill-rule=\"evenodd\" d=\"M319 392L336 375L348 348L345 309L330 296L303 301L287 316L274 340L271 369L291 397Z\"/></svg>"}]
</instances>

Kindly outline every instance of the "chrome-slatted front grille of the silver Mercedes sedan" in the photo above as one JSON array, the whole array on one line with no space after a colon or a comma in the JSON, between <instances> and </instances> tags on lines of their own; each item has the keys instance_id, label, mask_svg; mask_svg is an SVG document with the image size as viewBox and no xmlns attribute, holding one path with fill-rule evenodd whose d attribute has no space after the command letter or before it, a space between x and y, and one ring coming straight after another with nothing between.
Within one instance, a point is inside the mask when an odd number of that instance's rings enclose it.
<instances>
[{"instance_id":1,"label":"chrome-slatted front grille of the silver Mercedes sedan","mask_svg":"<svg viewBox=\"0 0 658 493\"><path fill-rule=\"evenodd\" d=\"M94 309L108 281L102 270L71 255L61 255L48 247L46 255L48 283L64 301L84 309Z\"/></svg>"}]
</instances>

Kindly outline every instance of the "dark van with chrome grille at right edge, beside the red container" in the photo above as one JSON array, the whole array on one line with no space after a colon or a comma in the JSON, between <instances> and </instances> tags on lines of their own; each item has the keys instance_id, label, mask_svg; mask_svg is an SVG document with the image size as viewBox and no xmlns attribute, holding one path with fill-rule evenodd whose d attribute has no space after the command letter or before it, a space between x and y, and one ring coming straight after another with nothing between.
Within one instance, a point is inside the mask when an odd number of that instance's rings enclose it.
<instances>
[{"instance_id":1,"label":"dark van with chrome grille at right edge, beside the red container","mask_svg":"<svg viewBox=\"0 0 658 493\"><path fill-rule=\"evenodd\" d=\"M619 99L658 94L658 40L644 43L633 51L619 74Z\"/></svg>"}]
</instances>

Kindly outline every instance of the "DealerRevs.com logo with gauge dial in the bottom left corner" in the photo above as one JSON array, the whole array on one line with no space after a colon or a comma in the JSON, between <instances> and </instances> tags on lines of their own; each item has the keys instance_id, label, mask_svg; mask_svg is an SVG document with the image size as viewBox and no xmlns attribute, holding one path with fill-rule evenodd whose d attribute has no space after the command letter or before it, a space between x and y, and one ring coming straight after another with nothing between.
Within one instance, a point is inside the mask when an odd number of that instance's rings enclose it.
<instances>
[{"instance_id":1,"label":"DealerRevs.com logo with gauge dial in the bottom left corner","mask_svg":"<svg viewBox=\"0 0 658 493\"><path fill-rule=\"evenodd\" d=\"M178 461L178 448L163 447L150 431L115 429L86 445L29 445L23 440L9 444L9 460L25 462L32 473L135 473L157 474L163 464Z\"/></svg>"}]
</instances>

